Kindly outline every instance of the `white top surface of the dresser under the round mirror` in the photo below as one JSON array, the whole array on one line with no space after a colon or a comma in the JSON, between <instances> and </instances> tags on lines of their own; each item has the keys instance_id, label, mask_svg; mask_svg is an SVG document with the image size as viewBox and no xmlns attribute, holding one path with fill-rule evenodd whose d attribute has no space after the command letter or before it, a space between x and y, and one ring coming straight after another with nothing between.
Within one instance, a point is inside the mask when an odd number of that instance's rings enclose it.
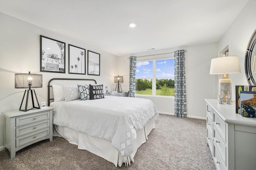
<instances>
[{"instance_id":1,"label":"white top surface of the dresser under the round mirror","mask_svg":"<svg viewBox=\"0 0 256 170\"><path fill-rule=\"evenodd\" d=\"M240 114L237 114L234 102L232 104L219 104L217 99L205 99L205 101L226 123L256 127L256 118L242 117Z\"/></svg>"}]
</instances>

